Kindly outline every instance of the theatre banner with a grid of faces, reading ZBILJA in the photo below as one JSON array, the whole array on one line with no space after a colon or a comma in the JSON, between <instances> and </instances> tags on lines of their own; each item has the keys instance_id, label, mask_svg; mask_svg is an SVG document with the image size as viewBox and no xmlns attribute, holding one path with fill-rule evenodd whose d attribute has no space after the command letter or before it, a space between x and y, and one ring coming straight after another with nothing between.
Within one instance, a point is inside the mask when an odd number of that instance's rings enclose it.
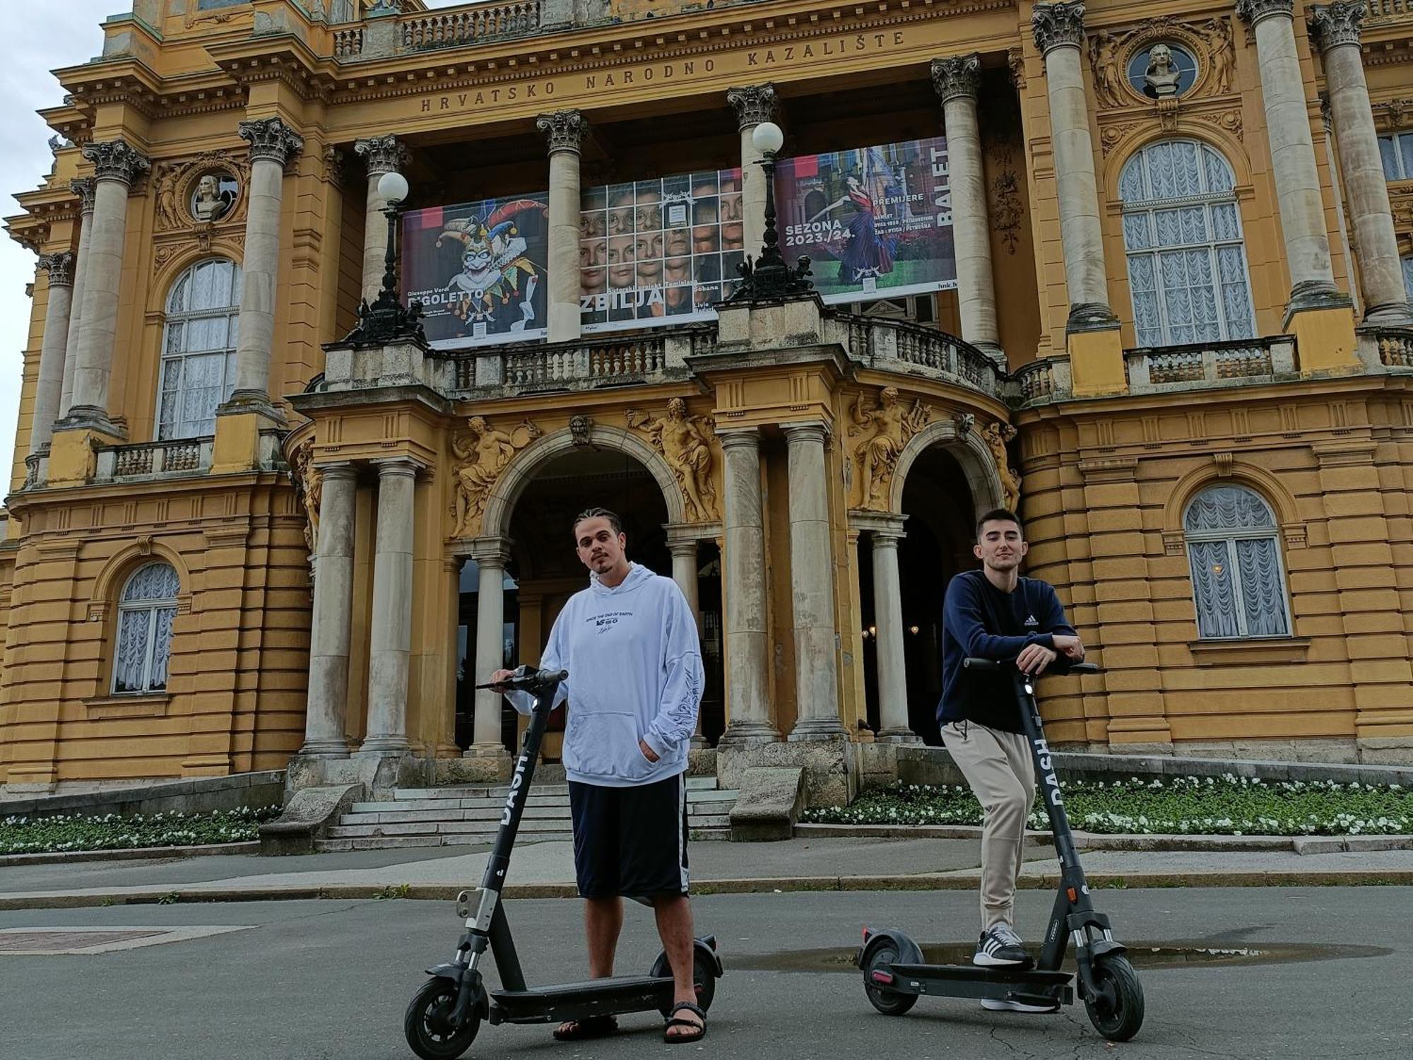
<instances>
[{"instance_id":1,"label":"theatre banner with a grid of faces, reading ZBILJA","mask_svg":"<svg viewBox=\"0 0 1413 1060\"><path fill-rule=\"evenodd\" d=\"M585 188L579 314L585 332L712 319L745 253L740 170Z\"/></svg>"}]
</instances>

